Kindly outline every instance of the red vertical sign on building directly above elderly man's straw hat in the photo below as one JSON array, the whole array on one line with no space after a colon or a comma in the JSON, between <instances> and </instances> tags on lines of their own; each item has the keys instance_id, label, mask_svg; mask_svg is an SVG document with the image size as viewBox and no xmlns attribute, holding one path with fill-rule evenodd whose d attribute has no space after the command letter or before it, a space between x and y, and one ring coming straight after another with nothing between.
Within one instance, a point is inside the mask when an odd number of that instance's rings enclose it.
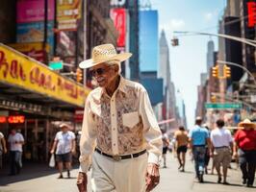
<instances>
[{"instance_id":1,"label":"red vertical sign on building directly above elderly man's straw hat","mask_svg":"<svg viewBox=\"0 0 256 192\"><path fill-rule=\"evenodd\" d=\"M111 17L118 32L117 47L125 47L126 36L126 12L125 9L116 8L111 10Z\"/></svg>"}]
</instances>

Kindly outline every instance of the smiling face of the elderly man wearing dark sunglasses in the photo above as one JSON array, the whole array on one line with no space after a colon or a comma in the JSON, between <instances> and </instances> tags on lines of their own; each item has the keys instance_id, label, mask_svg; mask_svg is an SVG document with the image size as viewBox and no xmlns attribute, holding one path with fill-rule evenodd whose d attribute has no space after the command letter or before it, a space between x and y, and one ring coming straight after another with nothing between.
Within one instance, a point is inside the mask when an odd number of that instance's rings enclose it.
<instances>
[{"instance_id":1,"label":"smiling face of the elderly man wearing dark sunglasses","mask_svg":"<svg viewBox=\"0 0 256 192\"><path fill-rule=\"evenodd\" d=\"M113 83L115 77L118 75L118 67L117 65L109 65L103 62L91 67L90 74L99 86L107 87Z\"/></svg>"}]
</instances>

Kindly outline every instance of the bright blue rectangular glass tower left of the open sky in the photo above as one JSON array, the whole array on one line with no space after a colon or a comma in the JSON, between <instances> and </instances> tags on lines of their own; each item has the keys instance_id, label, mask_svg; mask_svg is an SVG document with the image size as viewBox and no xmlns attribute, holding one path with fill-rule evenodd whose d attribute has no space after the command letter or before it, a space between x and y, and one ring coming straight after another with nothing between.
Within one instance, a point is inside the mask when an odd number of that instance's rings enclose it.
<instances>
[{"instance_id":1,"label":"bright blue rectangular glass tower left of the open sky","mask_svg":"<svg viewBox=\"0 0 256 192\"><path fill-rule=\"evenodd\" d=\"M158 70L158 11L140 11L140 70Z\"/></svg>"}]
</instances>

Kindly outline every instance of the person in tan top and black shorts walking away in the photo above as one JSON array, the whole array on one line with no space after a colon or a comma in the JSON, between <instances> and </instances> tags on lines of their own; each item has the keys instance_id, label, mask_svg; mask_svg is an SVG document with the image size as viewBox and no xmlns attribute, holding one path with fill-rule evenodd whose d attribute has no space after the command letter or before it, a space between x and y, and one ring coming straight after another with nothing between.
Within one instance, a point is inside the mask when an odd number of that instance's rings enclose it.
<instances>
[{"instance_id":1,"label":"person in tan top and black shorts walking away","mask_svg":"<svg viewBox=\"0 0 256 192\"><path fill-rule=\"evenodd\" d=\"M185 131L183 126L179 127L179 130L174 133L174 138L176 140L177 158L179 161L179 170L181 172L185 171L186 153L188 150L189 136L188 132Z\"/></svg>"}]
</instances>

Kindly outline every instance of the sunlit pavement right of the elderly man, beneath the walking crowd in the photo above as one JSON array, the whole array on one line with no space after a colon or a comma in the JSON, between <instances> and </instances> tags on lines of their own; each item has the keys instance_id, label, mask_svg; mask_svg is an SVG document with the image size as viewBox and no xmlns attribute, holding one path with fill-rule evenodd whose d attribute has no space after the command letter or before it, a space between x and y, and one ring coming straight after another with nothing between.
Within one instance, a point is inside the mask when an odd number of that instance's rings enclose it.
<instances>
[{"instance_id":1,"label":"sunlit pavement right of the elderly man, beneath the walking crowd","mask_svg":"<svg viewBox=\"0 0 256 192\"><path fill-rule=\"evenodd\" d=\"M161 169L161 181L155 192L250 192L256 191L256 187L247 188L242 185L240 169L232 163L232 168L228 170L228 182L230 185L218 184L217 171L215 175L205 175L204 183L194 180L194 168L192 161L187 156L185 172L178 171L177 159L172 155L167 155L167 168ZM210 162L209 165L212 165ZM210 166L209 166L210 168ZM210 171L209 171L210 172ZM256 180L254 181L254 186Z\"/></svg>"}]
</instances>

